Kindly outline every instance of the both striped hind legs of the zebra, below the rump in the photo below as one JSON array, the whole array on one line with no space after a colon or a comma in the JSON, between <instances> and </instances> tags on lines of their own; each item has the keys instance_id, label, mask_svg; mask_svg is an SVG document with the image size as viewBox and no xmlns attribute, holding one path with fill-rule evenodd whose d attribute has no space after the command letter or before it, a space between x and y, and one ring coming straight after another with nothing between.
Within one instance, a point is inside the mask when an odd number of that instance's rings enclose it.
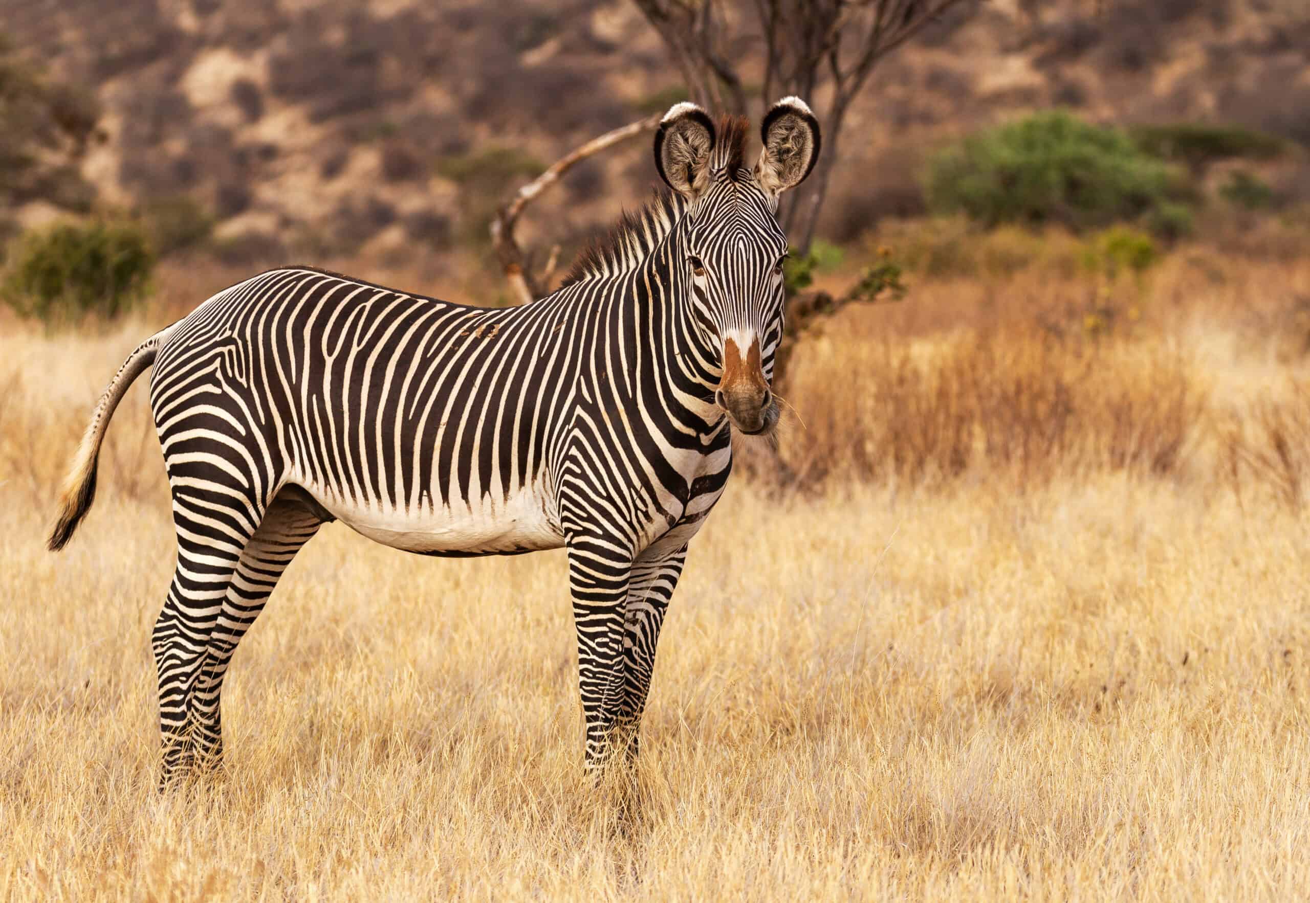
<instances>
[{"instance_id":1,"label":"both striped hind legs of the zebra, below the rump","mask_svg":"<svg viewBox=\"0 0 1310 903\"><path fill-rule=\"evenodd\" d=\"M240 551L229 542L194 548L194 542L178 533L178 573L153 639L164 746L161 787L221 764L220 692L232 653L282 572L324 522L321 509L301 496L295 487L279 493Z\"/></svg>"}]
</instances>

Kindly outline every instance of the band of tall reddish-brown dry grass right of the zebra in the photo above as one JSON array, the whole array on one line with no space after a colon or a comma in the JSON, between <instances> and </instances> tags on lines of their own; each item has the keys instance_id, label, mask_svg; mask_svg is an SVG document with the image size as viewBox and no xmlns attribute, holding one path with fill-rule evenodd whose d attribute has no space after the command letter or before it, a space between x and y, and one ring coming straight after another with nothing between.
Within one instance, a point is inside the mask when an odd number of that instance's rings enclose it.
<instances>
[{"instance_id":1,"label":"band of tall reddish-brown dry grass right of the zebra","mask_svg":"<svg viewBox=\"0 0 1310 903\"><path fill-rule=\"evenodd\" d=\"M1306 310L1310 263L1204 249L1141 281L1062 259L921 277L910 300L848 308L806 339L783 387L783 474L811 491L1024 492L1127 472L1290 501L1290 482L1310 487Z\"/></svg>"}]
</instances>

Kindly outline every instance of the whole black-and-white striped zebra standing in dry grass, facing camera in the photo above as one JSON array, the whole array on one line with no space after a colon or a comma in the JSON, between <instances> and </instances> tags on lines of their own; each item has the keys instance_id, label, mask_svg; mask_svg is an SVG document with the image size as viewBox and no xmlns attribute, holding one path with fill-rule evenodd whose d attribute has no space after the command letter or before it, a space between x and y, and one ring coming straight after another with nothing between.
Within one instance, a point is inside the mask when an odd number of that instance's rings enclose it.
<instances>
[{"instance_id":1,"label":"whole black-and-white striped zebra standing in dry grass, facing camera","mask_svg":"<svg viewBox=\"0 0 1310 903\"><path fill-rule=\"evenodd\" d=\"M587 764L635 755L688 540L723 492L730 424L770 431L786 238L778 195L819 126L789 97L745 122L679 103L655 136L672 194L626 216L558 292L515 309L308 267L261 274L141 343L105 390L50 538L90 508L105 428L155 364L177 529L159 620L165 780L221 754L242 635L320 525L427 555L569 550Z\"/></svg>"}]
</instances>

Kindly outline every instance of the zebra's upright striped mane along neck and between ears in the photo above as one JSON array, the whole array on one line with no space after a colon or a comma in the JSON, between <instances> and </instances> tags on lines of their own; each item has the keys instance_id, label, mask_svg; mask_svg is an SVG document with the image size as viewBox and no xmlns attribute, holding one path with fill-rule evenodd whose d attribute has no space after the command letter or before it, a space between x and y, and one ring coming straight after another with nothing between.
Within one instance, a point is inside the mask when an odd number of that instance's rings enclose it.
<instances>
[{"instance_id":1,"label":"zebra's upright striped mane along neck and between ears","mask_svg":"<svg viewBox=\"0 0 1310 903\"><path fill-rule=\"evenodd\" d=\"M726 166L734 182L745 157L745 137L751 124L744 116L720 116L711 166ZM600 238L593 238L574 259L559 288L588 279L630 272L646 259L686 209L681 195L659 188L637 211L622 211L618 222Z\"/></svg>"}]
</instances>

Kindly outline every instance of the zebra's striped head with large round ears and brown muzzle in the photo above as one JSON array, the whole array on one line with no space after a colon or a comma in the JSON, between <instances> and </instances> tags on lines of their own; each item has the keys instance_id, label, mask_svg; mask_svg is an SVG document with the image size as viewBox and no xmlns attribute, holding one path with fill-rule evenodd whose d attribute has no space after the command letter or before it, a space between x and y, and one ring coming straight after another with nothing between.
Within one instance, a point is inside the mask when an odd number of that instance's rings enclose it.
<instances>
[{"instance_id":1,"label":"zebra's striped head with large round ears and brown muzzle","mask_svg":"<svg viewBox=\"0 0 1310 903\"><path fill-rule=\"evenodd\" d=\"M751 169L741 164L744 137L745 120L724 119L717 130L705 110L677 103L655 133L655 166L688 203L672 245L681 259L671 264L694 328L718 355L714 400L736 429L757 434L778 421L769 390L787 257L778 198L814 169L819 122L799 98L778 101L760 127L764 147Z\"/></svg>"}]
</instances>

